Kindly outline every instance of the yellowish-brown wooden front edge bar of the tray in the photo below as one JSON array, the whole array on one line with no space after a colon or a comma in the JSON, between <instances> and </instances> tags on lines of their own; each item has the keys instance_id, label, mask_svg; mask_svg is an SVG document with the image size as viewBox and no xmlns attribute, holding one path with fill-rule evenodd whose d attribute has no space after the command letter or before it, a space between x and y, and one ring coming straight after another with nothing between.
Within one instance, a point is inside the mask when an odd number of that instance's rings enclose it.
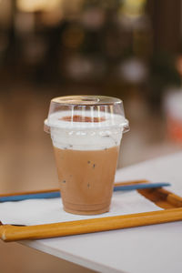
<instances>
[{"instance_id":1,"label":"yellowish-brown wooden front edge bar of the tray","mask_svg":"<svg viewBox=\"0 0 182 273\"><path fill-rule=\"evenodd\" d=\"M55 238L126 227L140 227L182 220L182 208L137 213L126 216L101 217L29 227L0 226L0 237L6 241Z\"/></svg>"}]
</instances>

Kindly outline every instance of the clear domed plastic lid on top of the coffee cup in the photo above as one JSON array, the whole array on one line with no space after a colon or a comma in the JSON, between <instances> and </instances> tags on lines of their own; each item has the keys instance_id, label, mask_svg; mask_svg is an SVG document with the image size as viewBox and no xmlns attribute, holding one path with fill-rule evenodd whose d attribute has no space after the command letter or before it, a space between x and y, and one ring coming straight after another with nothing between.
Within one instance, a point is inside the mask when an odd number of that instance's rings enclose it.
<instances>
[{"instance_id":1,"label":"clear domed plastic lid on top of the coffee cup","mask_svg":"<svg viewBox=\"0 0 182 273\"><path fill-rule=\"evenodd\" d=\"M123 101L111 96L59 96L51 100L45 132L57 128L106 128L129 130Z\"/></svg>"}]
</instances>

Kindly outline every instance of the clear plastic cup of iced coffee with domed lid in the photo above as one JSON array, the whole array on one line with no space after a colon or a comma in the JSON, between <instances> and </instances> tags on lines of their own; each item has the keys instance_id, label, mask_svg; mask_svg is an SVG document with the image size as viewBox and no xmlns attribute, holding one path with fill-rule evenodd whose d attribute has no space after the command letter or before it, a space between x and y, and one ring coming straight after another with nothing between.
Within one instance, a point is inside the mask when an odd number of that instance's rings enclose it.
<instances>
[{"instance_id":1,"label":"clear plastic cup of iced coffee with domed lid","mask_svg":"<svg viewBox=\"0 0 182 273\"><path fill-rule=\"evenodd\" d=\"M60 96L50 103L50 133L66 212L109 210L120 141L128 131L123 102L109 96Z\"/></svg>"}]
</instances>

